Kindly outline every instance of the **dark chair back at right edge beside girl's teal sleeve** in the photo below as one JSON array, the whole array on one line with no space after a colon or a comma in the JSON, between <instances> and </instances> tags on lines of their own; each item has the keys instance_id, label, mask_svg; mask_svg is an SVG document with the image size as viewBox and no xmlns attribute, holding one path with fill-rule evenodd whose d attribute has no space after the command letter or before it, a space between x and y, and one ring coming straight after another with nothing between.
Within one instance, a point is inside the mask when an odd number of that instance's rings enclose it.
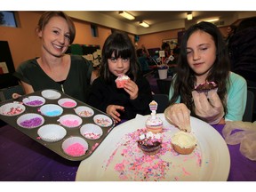
<instances>
[{"instance_id":1,"label":"dark chair back at right edge beside girl's teal sleeve","mask_svg":"<svg viewBox=\"0 0 256 192\"><path fill-rule=\"evenodd\" d=\"M252 122L253 106L254 106L254 93L248 89L246 107L245 107L244 116L243 116L244 122Z\"/></svg>"}]
</instances>

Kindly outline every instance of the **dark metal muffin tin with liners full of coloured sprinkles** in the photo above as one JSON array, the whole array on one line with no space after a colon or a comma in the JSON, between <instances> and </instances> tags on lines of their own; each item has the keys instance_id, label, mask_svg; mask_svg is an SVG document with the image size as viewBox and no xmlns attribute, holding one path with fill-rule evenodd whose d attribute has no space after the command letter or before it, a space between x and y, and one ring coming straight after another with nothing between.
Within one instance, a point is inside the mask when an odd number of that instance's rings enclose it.
<instances>
[{"instance_id":1,"label":"dark metal muffin tin with liners full of coloured sprinkles","mask_svg":"<svg viewBox=\"0 0 256 192\"><path fill-rule=\"evenodd\" d=\"M71 161L91 156L115 126L111 116L56 90L1 102L0 119Z\"/></svg>"}]
</instances>

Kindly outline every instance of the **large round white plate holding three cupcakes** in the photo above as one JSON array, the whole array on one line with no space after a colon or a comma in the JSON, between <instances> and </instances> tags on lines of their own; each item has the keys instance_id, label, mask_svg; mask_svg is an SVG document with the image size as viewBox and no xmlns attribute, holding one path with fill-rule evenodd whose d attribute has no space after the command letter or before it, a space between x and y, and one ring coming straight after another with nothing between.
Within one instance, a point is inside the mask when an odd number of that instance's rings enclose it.
<instances>
[{"instance_id":1,"label":"large round white plate holding three cupcakes","mask_svg":"<svg viewBox=\"0 0 256 192\"><path fill-rule=\"evenodd\" d=\"M160 116L164 121L165 143L168 140L170 142L172 134L179 130L166 122L164 114L157 114L157 116ZM81 162L76 173L76 180L124 181L120 177L120 172L117 172L115 169L116 164L121 164L124 160L131 161L127 156L120 155L121 150L127 149L127 143L123 145L126 142L124 138L129 133L144 128L147 119L148 116L137 116L135 119L116 126L109 133L108 137L102 141L92 156ZM123 178L129 174L125 180L228 180L230 156L225 140L222 139L220 133L211 125L194 117L191 117L191 127L192 133L197 139L197 146L192 154L185 156L175 155L170 144L170 146L168 145L170 150L164 153L164 155L159 155L161 159L156 160L156 164L160 164L159 162L162 161L169 163L168 169L164 172L155 172L158 173L157 178L155 176L150 178L150 175L147 175L147 179L141 179L141 175L138 176L141 173L138 170L141 167L143 168L143 166L147 167L148 163L140 164L140 167L136 167L132 171L130 170L129 173L127 169L129 169L130 165L126 163L126 166L123 167ZM133 143L132 150L132 156L136 156L136 158L144 156L136 148L136 143ZM132 161L129 163L134 164ZM137 173L132 175L132 172ZM164 173L166 173L165 177L163 177Z\"/></svg>"}]
</instances>

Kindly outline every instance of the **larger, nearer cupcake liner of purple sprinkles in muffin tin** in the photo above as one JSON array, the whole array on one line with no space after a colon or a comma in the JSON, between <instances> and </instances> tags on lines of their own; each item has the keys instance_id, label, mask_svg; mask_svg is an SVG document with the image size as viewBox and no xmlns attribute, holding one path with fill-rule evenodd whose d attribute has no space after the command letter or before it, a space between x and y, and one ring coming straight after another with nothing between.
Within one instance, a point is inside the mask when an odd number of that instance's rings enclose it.
<instances>
[{"instance_id":1,"label":"larger, nearer cupcake liner of purple sprinkles in muffin tin","mask_svg":"<svg viewBox=\"0 0 256 192\"><path fill-rule=\"evenodd\" d=\"M17 119L17 124L23 128L33 129L44 124L44 117L38 114L28 113L20 116Z\"/></svg>"}]
</instances>

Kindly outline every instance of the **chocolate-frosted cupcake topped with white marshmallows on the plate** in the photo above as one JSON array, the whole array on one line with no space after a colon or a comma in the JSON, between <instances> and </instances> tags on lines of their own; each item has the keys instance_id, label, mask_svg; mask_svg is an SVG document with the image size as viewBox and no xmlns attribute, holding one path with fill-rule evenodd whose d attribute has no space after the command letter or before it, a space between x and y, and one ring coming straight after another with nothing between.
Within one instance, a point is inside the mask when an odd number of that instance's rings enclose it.
<instances>
[{"instance_id":1,"label":"chocolate-frosted cupcake topped with white marshmallows on the plate","mask_svg":"<svg viewBox=\"0 0 256 192\"><path fill-rule=\"evenodd\" d=\"M137 143L138 148L140 148L144 154L154 156L162 148L161 134L154 134L153 132L142 133Z\"/></svg>"}]
</instances>

